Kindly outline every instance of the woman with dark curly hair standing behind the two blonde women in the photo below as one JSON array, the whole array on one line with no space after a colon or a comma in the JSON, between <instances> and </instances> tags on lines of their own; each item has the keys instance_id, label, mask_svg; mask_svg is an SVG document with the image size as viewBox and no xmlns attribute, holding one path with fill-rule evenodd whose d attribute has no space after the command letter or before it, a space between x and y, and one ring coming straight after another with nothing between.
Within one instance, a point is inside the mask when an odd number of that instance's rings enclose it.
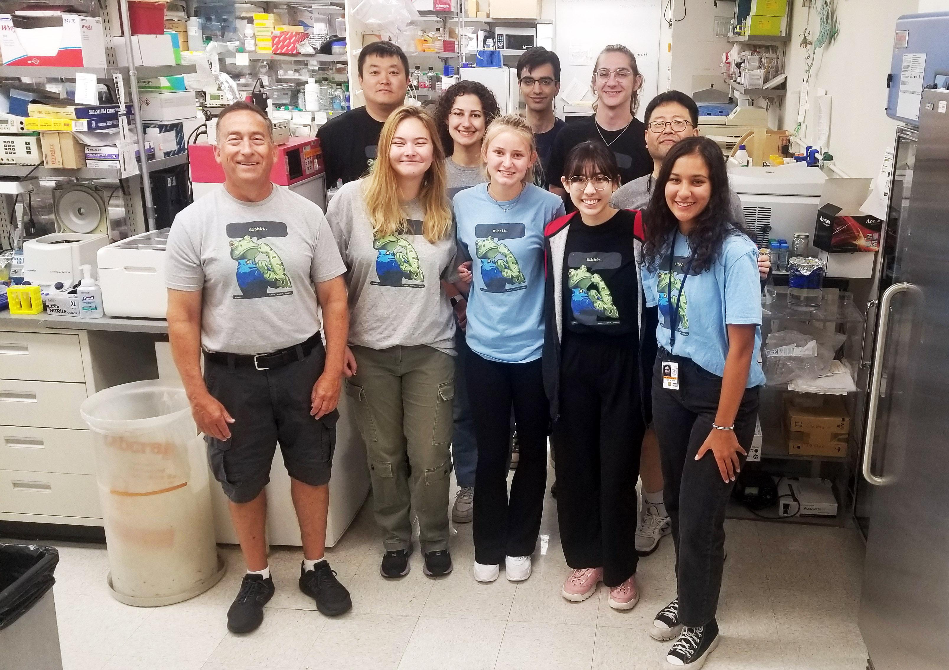
<instances>
[{"instance_id":1,"label":"woman with dark curly hair standing behind the two blonde women","mask_svg":"<svg viewBox=\"0 0 949 670\"><path fill-rule=\"evenodd\" d=\"M491 89L480 82L458 82L450 86L438 99L435 121L441 143L445 147L445 174L448 177L448 197L459 191L484 183L484 165L481 162L481 140L491 120L498 115L497 101ZM465 382L466 316L465 297L451 284L445 292L455 308L455 430L452 435L452 462L458 482L458 493L452 506L452 520L458 524L471 523L474 517L474 472L477 469L477 442L474 437L474 419L468 402Z\"/></svg>"}]
</instances>

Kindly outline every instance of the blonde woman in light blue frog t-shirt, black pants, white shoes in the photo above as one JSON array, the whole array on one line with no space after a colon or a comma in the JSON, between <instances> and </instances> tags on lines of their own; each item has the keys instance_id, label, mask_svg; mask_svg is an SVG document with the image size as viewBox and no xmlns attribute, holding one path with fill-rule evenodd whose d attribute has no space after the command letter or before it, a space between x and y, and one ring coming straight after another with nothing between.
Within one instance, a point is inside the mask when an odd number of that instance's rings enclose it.
<instances>
[{"instance_id":1,"label":"blonde woman in light blue frog t-shirt, black pants, white shoes","mask_svg":"<svg viewBox=\"0 0 949 670\"><path fill-rule=\"evenodd\" d=\"M560 198L534 186L533 132L518 116L492 121L482 158L488 183L455 196L468 290L468 393L477 437L474 579L530 577L547 483L549 406L544 393L544 226L564 214ZM509 500L511 406L520 462Z\"/></svg>"}]
</instances>

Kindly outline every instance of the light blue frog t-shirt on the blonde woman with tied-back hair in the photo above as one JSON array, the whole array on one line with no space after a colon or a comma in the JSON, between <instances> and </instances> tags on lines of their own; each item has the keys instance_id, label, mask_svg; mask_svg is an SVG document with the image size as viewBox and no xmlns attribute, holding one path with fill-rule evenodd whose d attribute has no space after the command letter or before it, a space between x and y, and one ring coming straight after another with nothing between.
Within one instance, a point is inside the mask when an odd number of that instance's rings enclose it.
<instances>
[{"instance_id":1,"label":"light blue frog t-shirt on the blonde woman with tied-back hair","mask_svg":"<svg viewBox=\"0 0 949 670\"><path fill-rule=\"evenodd\" d=\"M529 363L544 348L544 227L564 214L557 196L528 184L499 202L488 185L453 201L458 247L472 259L465 339L497 363Z\"/></svg>"}]
</instances>

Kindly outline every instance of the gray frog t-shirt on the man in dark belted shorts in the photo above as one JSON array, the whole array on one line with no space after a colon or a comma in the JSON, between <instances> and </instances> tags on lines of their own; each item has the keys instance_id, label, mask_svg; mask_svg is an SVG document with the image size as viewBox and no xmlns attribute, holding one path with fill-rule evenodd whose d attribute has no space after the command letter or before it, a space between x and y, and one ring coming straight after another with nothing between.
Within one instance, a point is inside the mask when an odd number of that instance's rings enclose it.
<instances>
[{"instance_id":1,"label":"gray frog t-shirt on the man in dark belted shorts","mask_svg":"<svg viewBox=\"0 0 949 670\"><path fill-rule=\"evenodd\" d=\"M175 217L165 283L203 290L201 345L259 354L320 329L314 284L346 268L320 208L286 186L244 202L223 185Z\"/></svg>"}]
</instances>

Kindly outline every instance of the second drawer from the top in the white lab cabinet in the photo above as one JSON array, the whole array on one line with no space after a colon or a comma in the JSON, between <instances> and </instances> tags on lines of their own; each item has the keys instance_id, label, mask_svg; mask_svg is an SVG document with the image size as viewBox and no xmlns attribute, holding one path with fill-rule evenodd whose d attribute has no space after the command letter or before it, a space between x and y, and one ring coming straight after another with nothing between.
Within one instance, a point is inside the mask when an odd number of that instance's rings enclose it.
<instances>
[{"instance_id":1,"label":"second drawer from the top in the white lab cabinet","mask_svg":"<svg viewBox=\"0 0 949 670\"><path fill-rule=\"evenodd\" d=\"M85 429L83 400L84 383L0 379L0 425Z\"/></svg>"}]
</instances>

